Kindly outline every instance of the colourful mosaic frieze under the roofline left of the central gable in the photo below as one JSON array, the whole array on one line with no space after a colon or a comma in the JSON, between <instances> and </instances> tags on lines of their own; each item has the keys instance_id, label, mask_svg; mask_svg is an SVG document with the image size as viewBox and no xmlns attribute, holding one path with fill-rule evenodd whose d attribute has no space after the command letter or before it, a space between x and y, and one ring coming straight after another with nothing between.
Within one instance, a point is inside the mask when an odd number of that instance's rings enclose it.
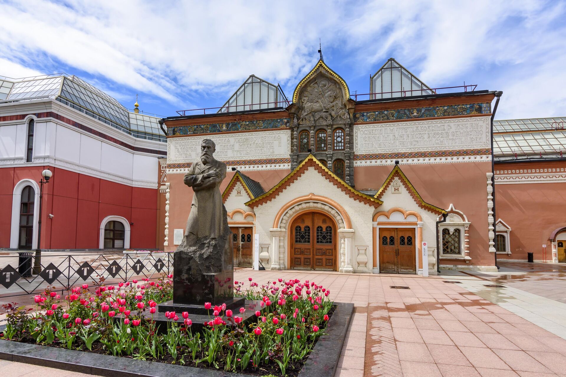
<instances>
[{"instance_id":1,"label":"colourful mosaic frieze under the roofline left of the central gable","mask_svg":"<svg viewBox=\"0 0 566 377\"><path fill-rule=\"evenodd\" d=\"M245 120L243 122L227 122L212 124L182 125L169 127L167 136L196 135L199 133L250 131L254 129L272 129L289 127L289 118Z\"/></svg>"}]
</instances>

